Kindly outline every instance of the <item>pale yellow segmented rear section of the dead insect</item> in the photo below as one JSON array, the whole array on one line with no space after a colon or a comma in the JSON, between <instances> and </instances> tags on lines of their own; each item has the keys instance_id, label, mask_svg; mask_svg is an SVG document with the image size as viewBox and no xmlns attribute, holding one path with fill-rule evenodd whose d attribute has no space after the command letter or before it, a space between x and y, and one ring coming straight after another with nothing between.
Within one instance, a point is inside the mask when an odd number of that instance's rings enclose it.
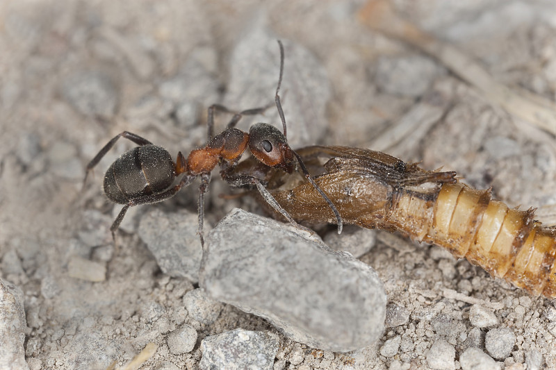
<instances>
[{"instance_id":1,"label":"pale yellow segmented rear section of the dead insect","mask_svg":"<svg viewBox=\"0 0 556 370\"><path fill-rule=\"evenodd\" d=\"M408 235L443 246L534 296L556 297L555 230L534 221L532 210L508 208L490 193L443 184L430 209L405 193L389 218Z\"/></svg>"}]
</instances>

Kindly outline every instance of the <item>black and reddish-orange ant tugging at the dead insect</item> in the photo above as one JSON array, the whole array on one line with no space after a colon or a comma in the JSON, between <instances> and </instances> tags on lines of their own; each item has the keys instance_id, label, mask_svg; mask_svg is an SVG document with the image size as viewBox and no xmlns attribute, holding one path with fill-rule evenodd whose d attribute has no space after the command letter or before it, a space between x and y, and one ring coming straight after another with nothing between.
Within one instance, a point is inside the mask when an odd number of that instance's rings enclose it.
<instances>
[{"instance_id":1,"label":"black and reddish-orange ant tugging at the dead insect","mask_svg":"<svg viewBox=\"0 0 556 370\"><path fill-rule=\"evenodd\" d=\"M342 219L336 206L330 201L328 196L322 192L320 187L315 183L309 171L306 169L304 162L297 152L293 151L288 145L286 139L286 118L282 110L279 90L284 74L284 46L278 40L280 48L280 75L278 86L276 88L275 103L280 115L284 133L270 124L258 123L251 126L249 133L240 131L235 128L238 121L243 115L256 115L263 113L267 107L243 110L235 113L228 110L224 106L215 104L208 108L207 119L207 144L204 148L191 151L186 159L181 151L177 155L176 162L172 160L170 153L161 146L156 146L139 135L124 131L110 140L97 153L87 165L83 185L87 180L89 172L95 167L106 153L114 146L115 142L124 137L138 144L135 148L126 151L120 158L115 160L106 171L104 176L104 194L114 203L123 204L124 207L117 215L110 230L115 240L115 232L120 227L120 223L130 207L134 205L150 204L164 201L171 198L182 187L188 186L197 177L201 180L199 186L199 226L197 233L201 239L201 245L204 246L203 239L203 220L204 220L204 194L208 190L208 183L211 181L211 171L220 164L220 176L234 187L242 187L245 185L255 185L265 201L272 206L277 212L284 216L292 224L297 223L277 203L270 192L266 190L265 185L261 183L259 178L248 174L234 174L234 167L237 165L241 155L249 146L249 150L254 157L269 167L278 168L291 174L294 169L294 157L300 165L300 168L307 180L317 190L334 212L338 222L338 234L342 230ZM214 111L234 113L227 128L222 133L213 136L214 131ZM172 186L174 180L183 174L177 185Z\"/></svg>"}]
</instances>

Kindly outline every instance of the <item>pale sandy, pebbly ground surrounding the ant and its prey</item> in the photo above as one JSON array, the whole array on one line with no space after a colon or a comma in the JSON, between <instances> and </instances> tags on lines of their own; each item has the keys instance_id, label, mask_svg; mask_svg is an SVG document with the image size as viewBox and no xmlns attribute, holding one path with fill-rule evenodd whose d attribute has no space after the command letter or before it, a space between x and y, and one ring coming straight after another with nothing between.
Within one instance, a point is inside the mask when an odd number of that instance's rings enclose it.
<instances>
[{"instance_id":1,"label":"pale sandy, pebbly ground surrounding the ant and its prey","mask_svg":"<svg viewBox=\"0 0 556 370\"><path fill-rule=\"evenodd\" d=\"M551 1L395 4L412 22L477 60L496 81L555 99ZM81 187L85 165L121 131L147 137L174 156L204 143L211 103L238 110L272 103L277 38L311 56L286 50L286 76L288 63L291 74L304 63L315 65L297 85L284 83L293 146L370 147L422 161L427 169L443 166L474 187L493 186L509 205L538 208L537 219L556 224L554 137L491 104L434 58L368 30L356 19L361 5L0 3L0 268L1 277L24 292L31 369L106 369L113 361L122 366L149 342L158 350L142 369L198 369L204 337L234 328L274 330L231 306L213 323L192 319L183 296L197 285L160 271L132 215L119 247L113 246L108 228L120 208L113 210L100 185L103 171L131 148L129 142L120 140ZM265 119L276 122L273 114ZM228 118L218 119L221 129ZM396 134L400 122L406 126ZM208 225L237 206L261 212L250 199L218 198L228 193L227 185L213 181ZM136 215L154 207L195 212L196 197L191 188ZM72 277L76 258L95 262L95 271L106 268L104 281ZM440 341L455 349L447 368L460 369L468 347L496 357L484 344L494 328L514 334L509 353L496 358L500 367L556 369L554 301L528 296L437 247L388 233L379 233L361 260L379 272L389 303L404 308L401 321L355 353L319 351L281 336L275 369L439 368L427 355ZM473 325L472 303L496 320L485 328ZM167 335L183 323L197 330L197 344L174 354Z\"/></svg>"}]
</instances>

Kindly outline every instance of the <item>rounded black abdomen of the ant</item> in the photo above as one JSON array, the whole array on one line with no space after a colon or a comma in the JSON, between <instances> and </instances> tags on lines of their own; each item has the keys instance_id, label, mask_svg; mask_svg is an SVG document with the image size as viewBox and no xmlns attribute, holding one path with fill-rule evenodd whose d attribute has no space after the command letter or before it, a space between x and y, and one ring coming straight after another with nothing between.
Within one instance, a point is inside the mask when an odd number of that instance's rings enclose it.
<instances>
[{"instance_id":1,"label":"rounded black abdomen of the ant","mask_svg":"<svg viewBox=\"0 0 556 370\"><path fill-rule=\"evenodd\" d=\"M111 201L126 204L138 196L166 190L174 178L174 162L166 149L152 144L136 146L108 168L104 193Z\"/></svg>"}]
</instances>

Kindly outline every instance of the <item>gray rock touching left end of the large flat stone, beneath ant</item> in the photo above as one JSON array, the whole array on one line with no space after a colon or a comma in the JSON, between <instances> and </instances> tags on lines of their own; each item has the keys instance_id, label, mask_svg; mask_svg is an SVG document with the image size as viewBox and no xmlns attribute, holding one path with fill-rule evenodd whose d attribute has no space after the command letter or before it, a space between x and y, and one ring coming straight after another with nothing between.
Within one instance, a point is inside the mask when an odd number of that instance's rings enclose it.
<instances>
[{"instance_id":1,"label":"gray rock touching left end of the large flat stone, beneath ant","mask_svg":"<svg viewBox=\"0 0 556 370\"><path fill-rule=\"evenodd\" d=\"M141 217L138 235L165 274L197 282L203 253L196 213L165 213L153 208Z\"/></svg>"}]
</instances>

